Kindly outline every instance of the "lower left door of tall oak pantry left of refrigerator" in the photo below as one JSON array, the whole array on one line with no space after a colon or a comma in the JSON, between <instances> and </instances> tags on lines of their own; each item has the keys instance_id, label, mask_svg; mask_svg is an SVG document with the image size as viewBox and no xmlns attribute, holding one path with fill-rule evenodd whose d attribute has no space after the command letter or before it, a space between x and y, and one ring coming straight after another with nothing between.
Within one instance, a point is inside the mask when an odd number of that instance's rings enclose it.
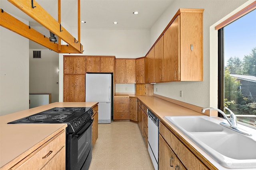
<instances>
[{"instance_id":1,"label":"lower left door of tall oak pantry left of refrigerator","mask_svg":"<svg viewBox=\"0 0 256 170\"><path fill-rule=\"evenodd\" d=\"M75 100L75 74L64 74L64 102L74 102Z\"/></svg>"}]
</instances>

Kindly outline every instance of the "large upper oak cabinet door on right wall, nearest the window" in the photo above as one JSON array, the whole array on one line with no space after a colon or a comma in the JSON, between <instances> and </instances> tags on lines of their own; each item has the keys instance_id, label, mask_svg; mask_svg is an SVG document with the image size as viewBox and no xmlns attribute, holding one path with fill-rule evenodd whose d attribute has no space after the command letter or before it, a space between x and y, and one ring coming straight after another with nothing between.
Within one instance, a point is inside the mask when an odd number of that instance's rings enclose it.
<instances>
[{"instance_id":1,"label":"large upper oak cabinet door on right wall, nearest the window","mask_svg":"<svg viewBox=\"0 0 256 170\"><path fill-rule=\"evenodd\" d=\"M180 16L164 33L164 82L180 80Z\"/></svg>"}]
</instances>

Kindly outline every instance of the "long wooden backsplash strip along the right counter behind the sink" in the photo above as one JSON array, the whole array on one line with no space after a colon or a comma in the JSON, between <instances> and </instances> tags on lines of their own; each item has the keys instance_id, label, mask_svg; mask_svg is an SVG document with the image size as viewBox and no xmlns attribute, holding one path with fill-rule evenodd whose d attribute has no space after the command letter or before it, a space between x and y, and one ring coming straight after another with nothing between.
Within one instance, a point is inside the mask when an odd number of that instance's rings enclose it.
<instances>
[{"instance_id":1,"label":"long wooden backsplash strip along the right counter behind the sink","mask_svg":"<svg viewBox=\"0 0 256 170\"><path fill-rule=\"evenodd\" d=\"M195 105L192 105L192 104L188 104L188 103L185 103L185 102L181 102L179 100L175 100L175 99L171 99L171 98L167 98L167 97L164 97L164 96L161 96L161 95L158 95L158 94L154 94L154 97L157 97L157 98L160 98L160 99L163 99L163 100L166 100L168 102L172 102L174 104L178 104L182 107L186 107L188 109L191 109L191 110L194 110L194 111L197 111L199 113L202 113L202 108L203 107L199 107L199 106L195 106ZM210 114L211 113L211 114ZM218 111L214 111L212 110L210 112L210 110L206 110L205 113L202 113L204 115L207 115L207 116L218 116Z\"/></svg>"}]
</instances>

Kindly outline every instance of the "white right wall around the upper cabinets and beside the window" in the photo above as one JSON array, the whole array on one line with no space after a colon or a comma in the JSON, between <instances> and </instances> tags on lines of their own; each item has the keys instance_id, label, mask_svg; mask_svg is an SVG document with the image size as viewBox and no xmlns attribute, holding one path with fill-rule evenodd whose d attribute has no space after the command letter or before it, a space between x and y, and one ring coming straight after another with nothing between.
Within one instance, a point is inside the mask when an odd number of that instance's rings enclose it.
<instances>
[{"instance_id":1,"label":"white right wall around the upper cabinets and beside the window","mask_svg":"<svg viewBox=\"0 0 256 170\"><path fill-rule=\"evenodd\" d=\"M210 66L218 67L216 63L210 63L210 26L224 18L227 14L247 2L247 0L175 0L162 14L150 30L150 45L154 44L160 33L170 22L179 8L203 8L204 9L204 32L203 32L203 61L204 80L202 82L169 82L154 84L154 93L180 100L200 107L216 107L218 79L212 79L210 84ZM218 49L215 49L215 51ZM216 70L216 69L215 69ZM216 75L216 74L215 74ZM156 88L158 91L156 92ZM183 97L180 97L180 90ZM210 96L211 95L211 96ZM211 101L214 98L214 101Z\"/></svg>"}]
</instances>

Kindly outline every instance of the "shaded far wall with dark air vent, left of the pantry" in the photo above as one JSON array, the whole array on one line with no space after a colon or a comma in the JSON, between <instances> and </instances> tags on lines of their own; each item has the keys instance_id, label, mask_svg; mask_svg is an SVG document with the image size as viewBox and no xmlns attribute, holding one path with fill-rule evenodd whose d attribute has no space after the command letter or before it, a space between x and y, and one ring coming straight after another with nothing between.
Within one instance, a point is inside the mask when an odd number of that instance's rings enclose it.
<instances>
[{"instance_id":1,"label":"shaded far wall with dark air vent, left of the pantry","mask_svg":"<svg viewBox=\"0 0 256 170\"><path fill-rule=\"evenodd\" d=\"M33 51L41 51L41 58L34 59ZM29 93L51 93L52 103L59 101L59 54L49 49L29 50Z\"/></svg>"}]
</instances>

